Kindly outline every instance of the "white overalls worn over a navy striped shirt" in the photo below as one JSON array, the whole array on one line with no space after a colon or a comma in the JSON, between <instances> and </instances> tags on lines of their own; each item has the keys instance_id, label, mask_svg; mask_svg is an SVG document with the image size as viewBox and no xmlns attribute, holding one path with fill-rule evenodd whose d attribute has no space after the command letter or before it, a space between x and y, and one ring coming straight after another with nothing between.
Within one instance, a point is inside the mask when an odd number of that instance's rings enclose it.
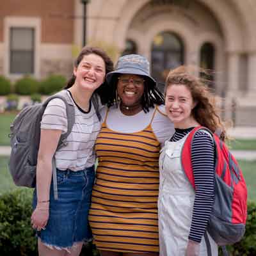
<instances>
[{"instance_id":1,"label":"white overalls worn over a navy striped shirt","mask_svg":"<svg viewBox=\"0 0 256 256\"><path fill-rule=\"evenodd\" d=\"M166 141L159 157L160 185L158 198L159 255L184 256L188 244L195 191L182 170L180 154L188 134L179 141ZM218 246L208 234L212 256ZM205 239L200 256L207 256Z\"/></svg>"}]
</instances>

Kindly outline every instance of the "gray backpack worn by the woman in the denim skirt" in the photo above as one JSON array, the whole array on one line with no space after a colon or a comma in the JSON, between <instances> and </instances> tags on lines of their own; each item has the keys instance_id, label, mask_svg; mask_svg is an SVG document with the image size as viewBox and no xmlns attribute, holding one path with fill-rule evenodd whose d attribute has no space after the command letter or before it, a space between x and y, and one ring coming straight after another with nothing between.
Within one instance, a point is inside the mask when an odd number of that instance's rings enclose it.
<instances>
[{"instance_id":1,"label":"gray backpack worn by the woman in the denim skirt","mask_svg":"<svg viewBox=\"0 0 256 256\"><path fill-rule=\"evenodd\" d=\"M15 117L10 126L11 155L9 170L13 181L17 186L35 188L36 186L36 163L40 143L40 122L45 108L50 100L59 98L65 102L67 111L68 127L65 134L61 134L57 149L67 145L66 139L75 123L74 105L68 99L67 91L58 92L42 104L28 106ZM56 164L52 161L52 175L54 182L54 197L56 194Z\"/></svg>"}]
</instances>

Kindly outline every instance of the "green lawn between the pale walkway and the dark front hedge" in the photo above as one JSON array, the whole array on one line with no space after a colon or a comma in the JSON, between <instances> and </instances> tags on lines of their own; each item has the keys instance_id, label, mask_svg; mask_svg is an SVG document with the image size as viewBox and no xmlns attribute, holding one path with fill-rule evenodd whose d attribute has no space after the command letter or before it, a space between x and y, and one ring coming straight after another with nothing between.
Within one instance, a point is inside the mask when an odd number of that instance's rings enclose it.
<instances>
[{"instance_id":1,"label":"green lawn between the pale walkway and the dark front hedge","mask_svg":"<svg viewBox=\"0 0 256 256\"><path fill-rule=\"evenodd\" d=\"M256 202L256 161L241 161L239 166L243 170L244 179L248 189L248 199ZM8 157L0 157L0 195L8 192L10 189L18 188L13 183L12 177L8 170Z\"/></svg>"}]
</instances>

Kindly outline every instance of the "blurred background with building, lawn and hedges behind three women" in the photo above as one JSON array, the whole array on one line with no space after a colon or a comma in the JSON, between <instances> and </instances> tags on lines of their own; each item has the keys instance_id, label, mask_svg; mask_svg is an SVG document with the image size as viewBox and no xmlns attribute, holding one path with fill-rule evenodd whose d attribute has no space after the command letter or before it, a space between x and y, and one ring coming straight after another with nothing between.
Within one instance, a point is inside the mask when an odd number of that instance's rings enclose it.
<instances>
[{"instance_id":1,"label":"blurred background with building, lawn and hedges behind three women","mask_svg":"<svg viewBox=\"0 0 256 256\"><path fill-rule=\"evenodd\" d=\"M88 44L115 62L147 57L162 91L179 65L212 71L203 78L233 122L228 146L248 187L246 234L228 250L256 255L255 24L256 0L0 0L0 255L37 255L33 189L17 189L8 171L10 124L24 106L63 88ZM82 255L99 254L89 243Z\"/></svg>"}]
</instances>

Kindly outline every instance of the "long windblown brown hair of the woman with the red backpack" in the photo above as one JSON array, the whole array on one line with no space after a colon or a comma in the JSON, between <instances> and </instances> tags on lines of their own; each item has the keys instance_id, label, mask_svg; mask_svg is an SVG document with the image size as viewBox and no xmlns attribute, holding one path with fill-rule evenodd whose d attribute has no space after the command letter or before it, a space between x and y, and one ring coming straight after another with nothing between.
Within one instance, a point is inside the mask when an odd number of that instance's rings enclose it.
<instances>
[{"instance_id":1,"label":"long windblown brown hair of the woman with the red backpack","mask_svg":"<svg viewBox=\"0 0 256 256\"><path fill-rule=\"evenodd\" d=\"M199 69L198 69L199 70ZM221 139L225 140L225 126L220 118L220 108L216 105L216 97L209 91L208 86L203 79L195 76L195 68L180 66L171 70L166 78L164 95L166 90L172 84L183 84L191 92L193 101L196 102L191 115L200 125L207 127L212 132L221 130ZM200 72L205 72L200 69Z\"/></svg>"}]
</instances>

